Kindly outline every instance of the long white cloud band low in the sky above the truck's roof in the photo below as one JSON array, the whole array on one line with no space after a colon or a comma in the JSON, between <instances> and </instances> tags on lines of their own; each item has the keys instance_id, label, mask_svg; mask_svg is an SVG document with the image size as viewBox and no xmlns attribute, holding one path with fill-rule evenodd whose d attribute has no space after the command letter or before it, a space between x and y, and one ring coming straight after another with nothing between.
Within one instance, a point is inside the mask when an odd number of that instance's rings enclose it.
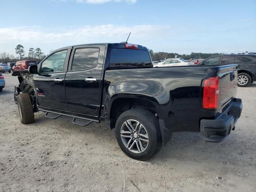
<instances>
[{"instance_id":1,"label":"long white cloud band low in the sky above the truck's roof","mask_svg":"<svg viewBox=\"0 0 256 192\"><path fill-rule=\"evenodd\" d=\"M113 24L83 27L43 28L40 26L20 26L0 28L0 44L6 42L62 42L81 41L91 42L98 39L118 39L128 36L141 38L163 34L168 26L138 25L117 26ZM161 32L162 31L162 32Z\"/></svg>"}]
</instances>

